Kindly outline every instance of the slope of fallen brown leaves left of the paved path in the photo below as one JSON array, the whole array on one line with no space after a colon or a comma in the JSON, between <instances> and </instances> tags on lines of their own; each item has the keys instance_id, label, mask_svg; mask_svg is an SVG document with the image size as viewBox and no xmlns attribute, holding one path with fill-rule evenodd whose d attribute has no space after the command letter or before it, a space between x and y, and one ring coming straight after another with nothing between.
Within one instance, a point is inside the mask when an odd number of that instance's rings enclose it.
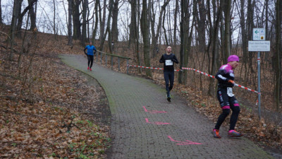
<instances>
[{"instance_id":1,"label":"slope of fallen brown leaves left of the paved path","mask_svg":"<svg viewBox=\"0 0 282 159\"><path fill-rule=\"evenodd\" d=\"M20 40L14 52L0 50L0 157L106 158L111 139L104 91L50 53L56 47L44 36L24 54Z\"/></svg>"}]
</instances>

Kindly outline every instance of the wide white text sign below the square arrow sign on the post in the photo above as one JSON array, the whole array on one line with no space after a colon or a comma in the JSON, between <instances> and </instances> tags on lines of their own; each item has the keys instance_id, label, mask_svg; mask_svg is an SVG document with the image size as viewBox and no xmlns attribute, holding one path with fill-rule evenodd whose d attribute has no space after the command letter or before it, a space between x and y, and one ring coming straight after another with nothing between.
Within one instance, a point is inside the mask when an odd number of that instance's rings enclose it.
<instances>
[{"instance_id":1,"label":"wide white text sign below the square arrow sign on the post","mask_svg":"<svg viewBox=\"0 0 282 159\"><path fill-rule=\"evenodd\" d=\"M249 52L270 52L270 41L249 41Z\"/></svg>"}]
</instances>

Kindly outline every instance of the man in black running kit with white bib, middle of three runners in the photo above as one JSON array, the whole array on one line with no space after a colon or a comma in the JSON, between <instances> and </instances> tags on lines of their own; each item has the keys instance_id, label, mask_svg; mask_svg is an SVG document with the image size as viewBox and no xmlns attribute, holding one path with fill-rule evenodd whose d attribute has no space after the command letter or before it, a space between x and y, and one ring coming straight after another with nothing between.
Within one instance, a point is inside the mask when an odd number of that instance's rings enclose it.
<instances>
[{"instance_id":1,"label":"man in black running kit with white bib, middle of three runners","mask_svg":"<svg viewBox=\"0 0 282 159\"><path fill-rule=\"evenodd\" d=\"M166 98L168 102L171 102L171 95L169 92L173 88L174 82L174 67L173 64L178 64L176 55L171 53L171 46L166 47L166 54L159 59L160 63L164 63L164 81L166 81Z\"/></svg>"}]
</instances>

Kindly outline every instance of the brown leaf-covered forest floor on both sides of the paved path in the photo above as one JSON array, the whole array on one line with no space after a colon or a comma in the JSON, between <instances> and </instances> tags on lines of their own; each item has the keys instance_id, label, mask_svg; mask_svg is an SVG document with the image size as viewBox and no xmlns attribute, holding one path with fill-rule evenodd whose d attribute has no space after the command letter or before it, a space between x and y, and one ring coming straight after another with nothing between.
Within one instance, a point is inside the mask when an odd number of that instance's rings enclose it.
<instances>
[{"instance_id":1,"label":"brown leaf-covered forest floor on both sides of the paved path","mask_svg":"<svg viewBox=\"0 0 282 159\"><path fill-rule=\"evenodd\" d=\"M104 90L58 57L83 54L80 42L74 40L70 47L67 37L36 33L35 39L30 31L26 35L30 44L22 45L17 38L11 50L4 34L8 34L8 26L1 25L0 30L1 158L106 158L111 114ZM142 76L136 71L130 73ZM164 86L161 73L154 73L152 79ZM216 98L178 83L173 89L216 122L221 113ZM247 102L241 105L237 129L274 157L282 158L281 126L259 119Z\"/></svg>"}]
</instances>

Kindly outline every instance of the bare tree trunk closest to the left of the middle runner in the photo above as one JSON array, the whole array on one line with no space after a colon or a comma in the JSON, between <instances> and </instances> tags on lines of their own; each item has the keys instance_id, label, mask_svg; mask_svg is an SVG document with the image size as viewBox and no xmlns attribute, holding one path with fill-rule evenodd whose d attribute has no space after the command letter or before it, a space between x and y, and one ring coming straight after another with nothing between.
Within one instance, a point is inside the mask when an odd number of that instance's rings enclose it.
<instances>
[{"instance_id":1,"label":"bare tree trunk closest to the left of the middle runner","mask_svg":"<svg viewBox=\"0 0 282 159\"><path fill-rule=\"evenodd\" d=\"M142 3L142 14L141 14L141 31L143 36L144 43L144 61L145 66L150 67L149 61L149 23L148 23L148 8L147 8L147 0L143 0ZM152 77L151 69L146 69L146 76Z\"/></svg>"}]
</instances>

